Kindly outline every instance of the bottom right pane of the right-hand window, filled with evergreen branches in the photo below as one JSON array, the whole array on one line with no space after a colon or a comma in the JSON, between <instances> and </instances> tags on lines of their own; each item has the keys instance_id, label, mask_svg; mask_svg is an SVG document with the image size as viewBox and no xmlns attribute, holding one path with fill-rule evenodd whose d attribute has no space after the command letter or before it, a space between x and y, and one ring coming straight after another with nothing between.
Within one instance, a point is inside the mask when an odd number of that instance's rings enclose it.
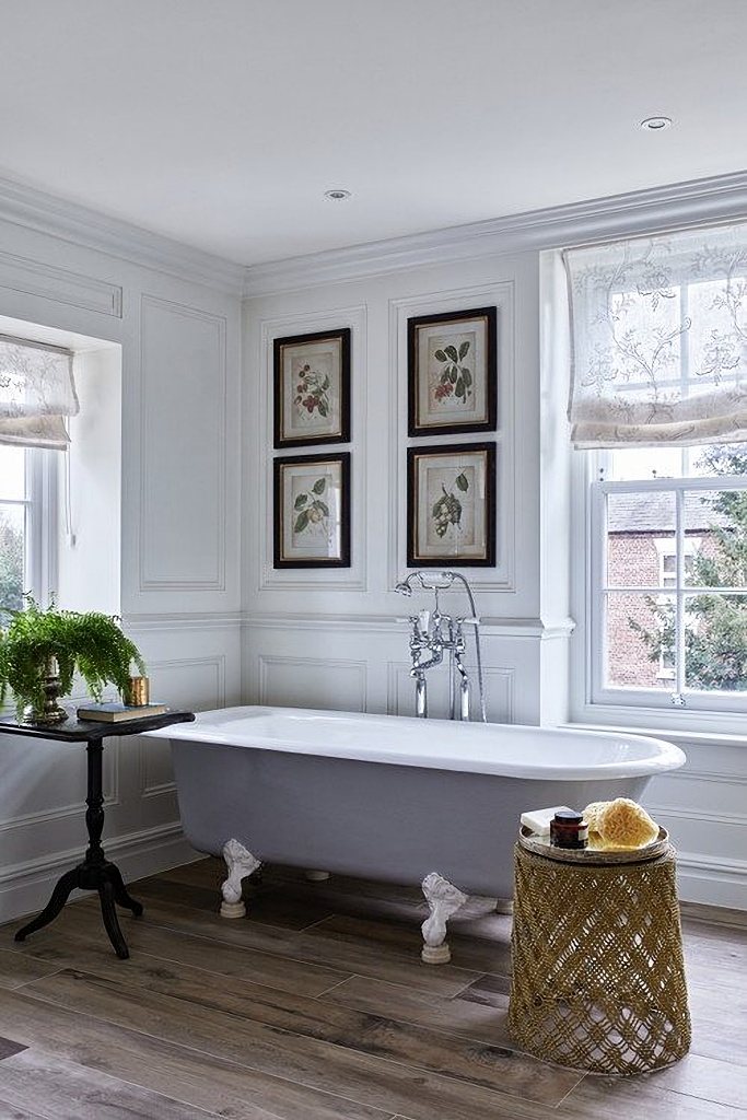
<instances>
[{"instance_id":1,"label":"bottom right pane of the right-hand window, filled with evergreen branches","mask_svg":"<svg viewBox=\"0 0 747 1120\"><path fill-rule=\"evenodd\" d=\"M747 595L687 597L685 685L699 691L747 689Z\"/></svg>"}]
</instances>

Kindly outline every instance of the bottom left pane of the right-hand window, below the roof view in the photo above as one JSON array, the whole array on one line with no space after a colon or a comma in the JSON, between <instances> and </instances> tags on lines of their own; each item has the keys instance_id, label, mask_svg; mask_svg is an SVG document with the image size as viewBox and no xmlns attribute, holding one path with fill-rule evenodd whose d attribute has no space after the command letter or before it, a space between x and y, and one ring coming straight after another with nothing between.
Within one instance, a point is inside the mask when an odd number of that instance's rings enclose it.
<instances>
[{"instance_id":1,"label":"bottom left pane of the right-hand window, below the roof view","mask_svg":"<svg viewBox=\"0 0 747 1120\"><path fill-rule=\"evenodd\" d=\"M609 592L606 601L605 688L671 691L671 603L664 596L626 591Z\"/></svg>"}]
</instances>

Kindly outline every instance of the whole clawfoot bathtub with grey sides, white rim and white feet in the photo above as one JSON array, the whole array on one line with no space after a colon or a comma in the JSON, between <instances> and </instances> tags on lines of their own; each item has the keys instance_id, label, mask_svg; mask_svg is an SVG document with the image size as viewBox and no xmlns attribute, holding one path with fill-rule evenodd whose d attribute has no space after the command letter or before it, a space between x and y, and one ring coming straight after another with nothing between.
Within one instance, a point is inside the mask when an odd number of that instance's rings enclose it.
<instances>
[{"instance_id":1,"label":"whole clawfoot bathtub with grey sides, white rim and white feet","mask_svg":"<svg viewBox=\"0 0 747 1120\"><path fill-rule=\"evenodd\" d=\"M661 739L300 708L200 712L171 743L179 811L197 851L223 855L222 913L261 862L421 884L423 959L449 959L464 892L510 900L522 812L639 799L685 762Z\"/></svg>"}]
</instances>

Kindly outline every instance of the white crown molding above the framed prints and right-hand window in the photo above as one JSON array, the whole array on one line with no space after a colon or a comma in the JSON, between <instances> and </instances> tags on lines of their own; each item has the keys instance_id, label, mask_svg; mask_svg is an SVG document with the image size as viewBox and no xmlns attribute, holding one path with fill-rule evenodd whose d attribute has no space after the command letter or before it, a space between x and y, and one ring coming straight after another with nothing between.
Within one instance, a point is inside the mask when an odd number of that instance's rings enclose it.
<instances>
[{"instance_id":1,"label":"white crown molding above the framed prints and right-hand window","mask_svg":"<svg viewBox=\"0 0 747 1120\"><path fill-rule=\"evenodd\" d=\"M747 217L747 171L249 265L248 298L527 250Z\"/></svg>"}]
</instances>

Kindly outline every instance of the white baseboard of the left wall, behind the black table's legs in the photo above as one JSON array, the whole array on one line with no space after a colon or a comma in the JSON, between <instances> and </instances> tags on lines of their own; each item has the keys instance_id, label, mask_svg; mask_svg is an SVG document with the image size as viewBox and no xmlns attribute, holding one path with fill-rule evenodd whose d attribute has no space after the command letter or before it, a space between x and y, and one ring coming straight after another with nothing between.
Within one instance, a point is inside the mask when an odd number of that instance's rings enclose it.
<instances>
[{"instance_id":1,"label":"white baseboard of the left wall, behind the black table's legs","mask_svg":"<svg viewBox=\"0 0 747 1120\"><path fill-rule=\"evenodd\" d=\"M106 858L116 864L125 883L203 858L187 843L178 822L123 837L109 837L104 849ZM60 875L80 864L83 855L84 849L76 848L0 871L0 923L43 909ZM76 890L71 898L84 894L87 892Z\"/></svg>"}]
</instances>

